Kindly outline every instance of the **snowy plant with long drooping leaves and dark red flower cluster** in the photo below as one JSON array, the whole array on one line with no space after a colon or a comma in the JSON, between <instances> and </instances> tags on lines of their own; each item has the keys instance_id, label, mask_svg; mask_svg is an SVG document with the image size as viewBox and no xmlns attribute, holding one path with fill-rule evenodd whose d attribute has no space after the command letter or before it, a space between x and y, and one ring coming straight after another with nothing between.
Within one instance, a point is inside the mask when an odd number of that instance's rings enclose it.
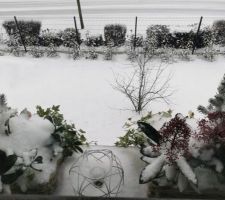
<instances>
[{"instance_id":1,"label":"snowy plant with long drooping leaves and dark red flower cluster","mask_svg":"<svg viewBox=\"0 0 225 200\"><path fill-rule=\"evenodd\" d=\"M151 140L150 146L141 149L144 155L141 159L148 165L141 172L140 183L176 184L181 192L191 187L198 191L207 189L209 184L202 181L203 172L207 177L219 173L220 178L216 181L221 185L224 183L224 164L217 158L217 147L209 148L198 138L202 133L194 129L196 123L195 119L180 114L166 122L159 131L147 123L138 122L139 128Z\"/></svg>"}]
</instances>

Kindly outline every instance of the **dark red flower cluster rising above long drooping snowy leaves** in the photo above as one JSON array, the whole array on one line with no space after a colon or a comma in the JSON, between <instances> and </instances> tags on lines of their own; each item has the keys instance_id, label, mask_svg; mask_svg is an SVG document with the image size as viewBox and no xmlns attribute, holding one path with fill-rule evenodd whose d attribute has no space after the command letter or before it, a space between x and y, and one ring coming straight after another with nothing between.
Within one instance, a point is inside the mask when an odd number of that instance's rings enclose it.
<instances>
[{"instance_id":1,"label":"dark red flower cluster rising above long drooping snowy leaves","mask_svg":"<svg viewBox=\"0 0 225 200\"><path fill-rule=\"evenodd\" d=\"M170 164L174 163L179 155L188 154L191 129L181 114L176 114L173 119L162 126L159 132L162 140L154 149L156 151L165 149L164 153Z\"/></svg>"}]
</instances>

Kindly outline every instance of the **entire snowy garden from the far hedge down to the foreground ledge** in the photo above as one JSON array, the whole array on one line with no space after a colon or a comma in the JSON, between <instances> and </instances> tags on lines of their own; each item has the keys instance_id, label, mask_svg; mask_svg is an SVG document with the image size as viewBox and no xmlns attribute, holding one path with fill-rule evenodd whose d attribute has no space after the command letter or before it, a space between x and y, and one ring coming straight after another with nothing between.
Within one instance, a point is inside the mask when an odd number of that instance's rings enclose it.
<instances>
[{"instance_id":1,"label":"entire snowy garden from the far hedge down to the foreground ledge","mask_svg":"<svg viewBox=\"0 0 225 200\"><path fill-rule=\"evenodd\" d=\"M145 35L2 26L1 193L223 196L224 20Z\"/></svg>"}]
</instances>

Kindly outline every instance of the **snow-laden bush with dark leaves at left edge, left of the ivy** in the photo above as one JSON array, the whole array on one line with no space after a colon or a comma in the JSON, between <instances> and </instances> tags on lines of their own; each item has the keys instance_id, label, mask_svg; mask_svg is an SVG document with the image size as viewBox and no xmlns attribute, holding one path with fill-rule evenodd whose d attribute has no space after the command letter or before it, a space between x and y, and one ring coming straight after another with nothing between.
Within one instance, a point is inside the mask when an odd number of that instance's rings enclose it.
<instances>
[{"instance_id":1,"label":"snow-laden bush with dark leaves at left edge, left of the ivy","mask_svg":"<svg viewBox=\"0 0 225 200\"><path fill-rule=\"evenodd\" d=\"M39 168L43 165L43 157L38 155L43 131L46 131L43 129L45 123L34 118L30 120L31 117L26 109L18 115L15 109L7 106L5 95L0 95L0 193L11 193L12 184L21 179L24 184L19 185L25 192L28 171L34 177L43 170L46 179L49 178L46 169ZM34 127L39 129L34 130ZM43 149L40 150L43 153ZM39 183L36 182L36 186Z\"/></svg>"}]
</instances>

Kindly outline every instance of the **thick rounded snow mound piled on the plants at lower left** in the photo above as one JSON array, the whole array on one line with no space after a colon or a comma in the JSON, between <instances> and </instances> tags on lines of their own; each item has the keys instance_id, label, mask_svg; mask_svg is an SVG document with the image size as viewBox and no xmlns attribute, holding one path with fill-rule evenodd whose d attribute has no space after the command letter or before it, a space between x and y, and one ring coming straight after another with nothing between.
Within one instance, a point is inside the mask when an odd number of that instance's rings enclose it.
<instances>
[{"instance_id":1,"label":"thick rounded snow mound piled on the plants at lower left","mask_svg":"<svg viewBox=\"0 0 225 200\"><path fill-rule=\"evenodd\" d=\"M23 159L23 163L27 166L31 164L31 160L34 159L36 152L38 156L43 156L43 164L34 166L43 171L41 173L34 171L36 176L29 182L29 185L26 185L28 183L25 181L25 172L18 179L19 186L25 190L26 188L35 187L37 183L48 182L52 173L56 170L57 159L50 161L52 152L45 146L45 143L50 138L54 127L49 121L36 115L27 119L23 114L11 118L9 124L11 134L9 136L5 135L4 132L1 134L0 147L2 150L10 151L7 154L15 153ZM18 159L17 164L19 164L20 160Z\"/></svg>"}]
</instances>

